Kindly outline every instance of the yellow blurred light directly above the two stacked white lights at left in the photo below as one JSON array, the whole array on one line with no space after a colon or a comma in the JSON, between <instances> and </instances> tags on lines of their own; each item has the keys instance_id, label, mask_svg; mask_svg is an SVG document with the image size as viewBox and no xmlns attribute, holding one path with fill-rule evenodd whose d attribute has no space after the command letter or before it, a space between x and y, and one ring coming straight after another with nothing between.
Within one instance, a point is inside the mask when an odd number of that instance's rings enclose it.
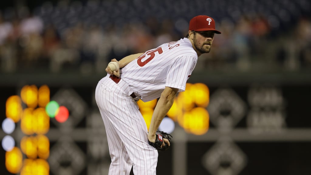
<instances>
[{"instance_id":1,"label":"yellow blurred light directly above the two stacked white lights at left","mask_svg":"<svg viewBox=\"0 0 311 175\"><path fill-rule=\"evenodd\" d=\"M11 118L15 123L20 121L23 108L21 106L21 98L19 96L14 95L7 98L5 107L7 118Z\"/></svg>"}]
</instances>

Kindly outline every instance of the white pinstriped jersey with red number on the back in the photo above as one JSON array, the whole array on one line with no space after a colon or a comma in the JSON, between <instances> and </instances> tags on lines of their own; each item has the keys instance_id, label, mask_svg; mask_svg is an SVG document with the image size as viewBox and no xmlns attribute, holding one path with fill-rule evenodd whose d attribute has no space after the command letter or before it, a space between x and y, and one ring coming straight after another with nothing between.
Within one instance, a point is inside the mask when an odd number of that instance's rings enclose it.
<instances>
[{"instance_id":1,"label":"white pinstriped jersey with red number on the back","mask_svg":"<svg viewBox=\"0 0 311 175\"><path fill-rule=\"evenodd\" d=\"M188 38L148 50L121 69L123 79L144 102L161 96L165 86L185 91L197 63L197 53Z\"/></svg>"}]
</instances>

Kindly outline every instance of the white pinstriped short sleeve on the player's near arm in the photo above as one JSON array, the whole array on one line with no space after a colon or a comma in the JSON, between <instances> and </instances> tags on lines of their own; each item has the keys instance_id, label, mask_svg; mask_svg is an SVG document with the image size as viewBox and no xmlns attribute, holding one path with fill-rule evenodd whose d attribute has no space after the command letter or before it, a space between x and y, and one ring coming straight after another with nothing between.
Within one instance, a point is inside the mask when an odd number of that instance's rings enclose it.
<instances>
[{"instance_id":1,"label":"white pinstriped short sleeve on the player's near arm","mask_svg":"<svg viewBox=\"0 0 311 175\"><path fill-rule=\"evenodd\" d=\"M197 63L196 61L191 56L175 59L168 69L165 86L177 88L178 92L185 91L187 80Z\"/></svg>"}]
</instances>

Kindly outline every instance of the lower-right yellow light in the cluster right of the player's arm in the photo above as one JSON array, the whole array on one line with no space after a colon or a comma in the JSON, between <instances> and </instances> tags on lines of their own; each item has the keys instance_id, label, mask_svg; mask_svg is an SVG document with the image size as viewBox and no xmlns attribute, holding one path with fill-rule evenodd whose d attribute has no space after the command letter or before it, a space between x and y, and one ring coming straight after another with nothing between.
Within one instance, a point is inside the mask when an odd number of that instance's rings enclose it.
<instances>
[{"instance_id":1,"label":"lower-right yellow light in the cluster right of the player's arm","mask_svg":"<svg viewBox=\"0 0 311 175\"><path fill-rule=\"evenodd\" d=\"M203 135L209 129L209 114L205 108L196 107L185 116L185 130L195 135Z\"/></svg>"}]
</instances>

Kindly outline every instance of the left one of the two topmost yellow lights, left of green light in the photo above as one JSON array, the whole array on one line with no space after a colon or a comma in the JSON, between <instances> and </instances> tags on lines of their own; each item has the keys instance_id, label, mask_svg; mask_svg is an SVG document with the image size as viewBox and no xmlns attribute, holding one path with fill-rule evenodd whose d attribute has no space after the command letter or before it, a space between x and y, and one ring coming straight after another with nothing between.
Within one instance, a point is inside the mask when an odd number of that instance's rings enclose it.
<instances>
[{"instance_id":1,"label":"left one of the two topmost yellow lights, left of green light","mask_svg":"<svg viewBox=\"0 0 311 175\"><path fill-rule=\"evenodd\" d=\"M28 107L38 105L38 88L35 85L26 85L21 89L21 99Z\"/></svg>"}]
</instances>

